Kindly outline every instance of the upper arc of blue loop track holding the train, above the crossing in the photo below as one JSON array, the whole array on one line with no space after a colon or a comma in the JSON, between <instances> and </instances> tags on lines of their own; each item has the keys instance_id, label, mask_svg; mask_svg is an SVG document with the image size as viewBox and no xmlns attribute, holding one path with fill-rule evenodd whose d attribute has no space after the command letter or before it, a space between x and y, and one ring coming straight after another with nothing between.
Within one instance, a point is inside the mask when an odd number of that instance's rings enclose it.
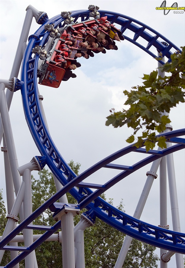
<instances>
[{"instance_id":1,"label":"upper arc of blue loop track holding the train, above the crossing","mask_svg":"<svg viewBox=\"0 0 185 268\"><path fill-rule=\"evenodd\" d=\"M170 51L170 48L175 50L179 50L173 43L167 40L165 37L151 29L150 27L142 24L134 20L133 18L129 18L127 16L112 13L109 11L101 11L101 16L106 15L111 23L116 23L121 25L121 31L125 32L126 29L135 33L133 40L124 35L125 39L136 44L144 51L152 55L153 57L157 57L155 54L151 54L149 48L153 46L156 49L163 51L162 56L168 57L170 59L170 55L173 53ZM87 20L89 18L89 11L79 10L71 13L71 16L75 18L74 21ZM54 23L55 27L58 25L61 27L63 23L63 18L58 15L54 18L47 20L47 24ZM141 30L142 29L142 30ZM148 33L146 30L150 31ZM151 35L151 32L153 35ZM29 38L29 43L27 49L25 51L23 68L22 68L22 81L24 81L24 88L22 90L23 95L23 105L25 111L25 117L28 122L29 129L31 131L32 137L38 147L41 155L45 155L47 160L47 165L50 166L52 172L54 172L55 176L58 180L65 185L69 180L72 180L76 177L76 174L68 167L58 149L55 147L55 144L50 137L50 134L47 130L47 127L44 122L44 118L42 116L41 107L39 104L39 96L38 96L38 88L37 88L37 65L38 65L38 55L32 54L32 49L37 46L44 46L47 42L49 33L44 30L44 24L36 31L36 33ZM141 44L137 43L136 40L138 37L142 37L147 40L149 43L147 47L143 47ZM42 40L41 40L42 38ZM165 47L158 38L162 38L163 41L168 42L169 45ZM157 50L156 50L157 53ZM162 62L163 63L163 62ZM76 196L75 198L78 200L80 196Z\"/></svg>"}]
</instances>

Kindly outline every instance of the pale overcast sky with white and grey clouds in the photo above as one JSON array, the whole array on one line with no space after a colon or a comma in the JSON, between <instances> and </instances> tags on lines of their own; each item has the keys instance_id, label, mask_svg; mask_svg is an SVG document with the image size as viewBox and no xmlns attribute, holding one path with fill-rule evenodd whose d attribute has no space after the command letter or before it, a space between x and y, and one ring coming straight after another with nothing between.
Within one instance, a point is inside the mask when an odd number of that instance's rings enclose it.
<instances>
[{"instance_id":1,"label":"pale overcast sky with white and grey clouds","mask_svg":"<svg viewBox=\"0 0 185 268\"><path fill-rule=\"evenodd\" d=\"M171 7L173 3L167 0L166 6ZM178 7L183 7L185 4L184 1L177 3ZM49 18L62 11L87 10L90 4L94 4L99 6L100 10L121 13L141 21L160 32L176 46L184 46L184 13L174 14L170 11L168 15L164 15L163 11L156 10L162 1L0 1L2 79L9 78L25 18L25 9L29 4L39 11L45 11ZM38 28L39 25L33 18L30 34ZM132 131L127 127L118 129L106 127L106 117L110 114L111 108L122 109L125 102L122 93L124 89L129 90L132 86L141 85L143 74L149 74L157 68L156 60L130 42L124 40L117 45L117 51L95 54L95 57L89 60L80 59L82 66L75 70L77 78L68 82L62 81L58 89L39 85L40 94L44 97L42 103L51 137L67 163L71 159L75 163L81 163L80 173L128 145L125 140ZM184 104L178 105L170 112L173 130L184 128L184 113ZM18 162L22 166L33 156L40 154L25 121L20 92L16 92L13 96L10 119ZM0 159L0 188L4 188L3 153ZM139 154L135 153L121 158L116 163L132 165L139 160ZM174 153L174 161L181 231L184 232L184 151ZM133 215L146 181L146 172L150 167L151 165L144 167L111 188L106 192L107 199L114 198L115 206L123 199L126 212ZM104 169L103 172L93 175L89 180L102 184L115 174L115 171L110 169ZM33 174L37 176L36 172ZM156 179L141 220L159 225L159 215L159 179ZM168 218L168 224L172 229L169 197ZM173 259L168 267L174 267Z\"/></svg>"}]
</instances>

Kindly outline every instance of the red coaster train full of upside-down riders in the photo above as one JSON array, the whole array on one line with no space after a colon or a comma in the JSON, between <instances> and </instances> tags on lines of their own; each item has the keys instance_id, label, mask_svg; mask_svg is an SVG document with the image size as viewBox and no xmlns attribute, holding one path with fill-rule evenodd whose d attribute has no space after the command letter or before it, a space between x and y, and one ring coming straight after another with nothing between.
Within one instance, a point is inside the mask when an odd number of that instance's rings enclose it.
<instances>
[{"instance_id":1,"label":"red coaster train full of upside-down riders","mask_svg":"<svg viewBox=\"0 0 185 268\"><path fill-rule=\"evenodd\" d=\"M67 15L71 13L68 12ZM66 13L62 12L62 16ZM54 24L45 25L50 32L47 43L42 48L37 46L33 53L39 54L38 78L39 84L54 88L60 86L61 81L75 78L71 70L80 67L76 61L78 57L94 57L94 53L106 53L106 49L116 49L115 36L124 40L121 32L111 24L107 17L93 18L73 23L73 18L66 20L64 27L54 29ZM69 21L69 22L68 22Z\"/></svg>"}]
</instances>

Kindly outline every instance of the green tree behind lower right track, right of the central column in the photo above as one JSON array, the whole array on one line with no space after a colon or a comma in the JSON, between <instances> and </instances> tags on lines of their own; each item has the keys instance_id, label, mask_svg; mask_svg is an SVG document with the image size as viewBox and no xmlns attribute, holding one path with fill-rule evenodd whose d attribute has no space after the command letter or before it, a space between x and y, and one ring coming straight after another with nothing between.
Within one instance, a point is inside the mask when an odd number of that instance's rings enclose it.
<instances>
[{"instance_id":1,"label":"green tree behind lower right track, right of the central column","mask_svg":"<svg viewBox=\"0 0 185 268\"><path fill-rule=\"evenodd\" d=\"M106 200L105 195L101 195ZM109 199L113 205L113 199ZM121 200L119 210L124 211ZM124 211L125 212L125 211ZM113 268L122 247L125 234L96 218L95 225L84 231L85 267ZM132 240L123 268L157 267L159 258L155 247Z\"/></svg>"}]
</instances>

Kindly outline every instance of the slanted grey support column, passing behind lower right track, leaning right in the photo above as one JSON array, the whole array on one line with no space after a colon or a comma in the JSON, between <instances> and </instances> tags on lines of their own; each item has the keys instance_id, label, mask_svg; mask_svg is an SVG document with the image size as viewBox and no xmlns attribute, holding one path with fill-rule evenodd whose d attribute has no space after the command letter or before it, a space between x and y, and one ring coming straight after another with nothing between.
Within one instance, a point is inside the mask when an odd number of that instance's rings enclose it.
<instances>
[{"instance_id":1,"label":"slanted grey support column, passing behind lower right track, leaning right","mask_svg":"<svg viewBox=\"0 0 185 268\"><path fill-rule=\"evenodd\" d=\"M148 171L146 173L146 175L147 175L146 183L144 185L143 191L141 193L141 197L139 199L138 205L137 205L135 212L134 212L134 215L133 215L133 217L136 219L140 219L140 217L141 217L141 214L143 212L143 208L144 208L146 200L148 198L151 186L154 182L154 179L157 178L156 172L157 172L157 169L160 165L160 161L161 161L161 158L155 160L152 163L151 171ZM132 242L132 237L126 235L114 268L120 268L123 266L123 263L125 261L125 258L126 258L126 255L127 255L128 250L129 250L131 242Z\"/></svg>"}]
</instances>

